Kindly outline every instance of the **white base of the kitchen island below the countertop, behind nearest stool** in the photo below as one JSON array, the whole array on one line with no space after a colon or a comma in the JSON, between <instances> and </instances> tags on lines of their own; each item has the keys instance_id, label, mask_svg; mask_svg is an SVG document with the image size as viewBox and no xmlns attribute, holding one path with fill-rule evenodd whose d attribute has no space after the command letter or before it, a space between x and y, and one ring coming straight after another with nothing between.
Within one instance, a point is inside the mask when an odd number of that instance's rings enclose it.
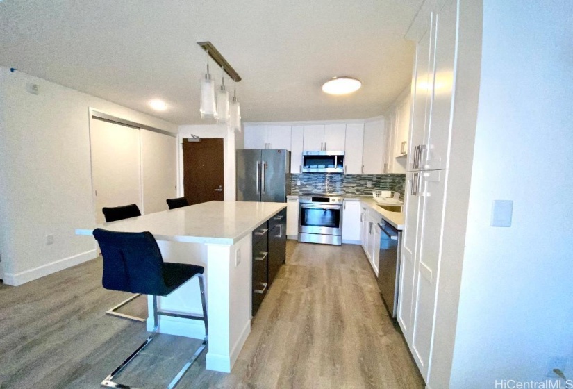
<instances>
[{"instance_id":1,"label":"white base of the kitchen island below the countertop, behind nearest stool","mask_svg":"<svg viewBox=\"0 0 573 389\"><path fill-rule=\"evenodd\" d=\"M166 262L192 263L206 267L205 283L208 316L206 368L231 372L251 332L251 234L235 245L158 241ZM148 298L148 311L153 309ZM160 310L201 315L199 283L192 279L167 297L158 299ZM153 320L147 319L147 331ZM203 339L199 320L160 316L160 333Z\"/></svg>"}]
</instances>

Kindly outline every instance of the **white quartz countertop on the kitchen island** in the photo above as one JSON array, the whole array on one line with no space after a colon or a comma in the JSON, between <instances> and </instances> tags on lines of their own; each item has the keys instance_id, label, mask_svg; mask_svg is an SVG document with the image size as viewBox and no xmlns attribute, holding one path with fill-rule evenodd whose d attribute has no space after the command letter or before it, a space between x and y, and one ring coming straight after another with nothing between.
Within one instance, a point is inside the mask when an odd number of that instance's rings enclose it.
<instances>
[{"instance_id":1,"label":"white quartz countertop on the kitchen island","mask_svg":"<svg viewBox=\"0 0 573 389\"><path fill-rule=\"evenodd\" d=\"M122 232L149 231L156 240L234 245L284 208L286 203L209 201L97 227ZM76 229L76 234L92 235L93 230Z\"/></svg>"}]
</instances>

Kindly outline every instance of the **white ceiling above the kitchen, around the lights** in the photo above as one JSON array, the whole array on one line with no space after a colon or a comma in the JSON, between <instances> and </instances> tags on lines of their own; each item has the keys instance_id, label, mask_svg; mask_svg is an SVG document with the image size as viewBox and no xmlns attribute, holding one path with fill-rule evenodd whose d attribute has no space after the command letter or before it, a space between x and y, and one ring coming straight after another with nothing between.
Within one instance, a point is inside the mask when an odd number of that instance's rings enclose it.
<instances>
[{"instance_id":1,"label":"white ceiling above the kitchen, around the lights","mask_svg":"<svg viewBox=\"0 0 573 389\"><path fill-rule=\"evenodd\" d=\"M420 3L4 0L0 65L175 124L199 124L206 54L196 42L209 40L242 77L244 122L374 117L408 85L414 45L403 37ZM354 76L363 87L324 94L333 76ZM151 110L156 98L169 109Z\"/></svg>"}]
</instances>

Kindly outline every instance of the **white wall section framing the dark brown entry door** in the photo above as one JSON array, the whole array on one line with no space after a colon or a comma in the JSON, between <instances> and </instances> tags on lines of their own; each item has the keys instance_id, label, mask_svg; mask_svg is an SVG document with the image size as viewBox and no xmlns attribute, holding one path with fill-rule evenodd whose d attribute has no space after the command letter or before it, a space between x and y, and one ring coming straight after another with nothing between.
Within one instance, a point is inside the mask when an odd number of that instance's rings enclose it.
<instances>
[{"instance_id":1,"label":"white wall section framing the dark brown entry door","mask_svg":"<svg viewBox=\"0 0 573 389\"><path fill-rule=\"evenodd\" d=\"M223 138L224 145L224 200L235 201L235 132L229 131L226 124L204 124L179 126L178 154L179 169L178 183L179 196L183 196L183 138L190 138L191 134L200 138Z\"/></svg>"}]
</instances>

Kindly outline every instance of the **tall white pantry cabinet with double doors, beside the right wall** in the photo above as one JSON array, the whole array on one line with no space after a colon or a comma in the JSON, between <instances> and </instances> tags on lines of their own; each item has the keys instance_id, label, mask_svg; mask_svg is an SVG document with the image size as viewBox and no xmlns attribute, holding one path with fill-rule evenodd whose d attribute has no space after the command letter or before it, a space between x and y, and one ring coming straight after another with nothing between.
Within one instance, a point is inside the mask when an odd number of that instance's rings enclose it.
<instances>
[{"instance_id":1,"label":"tall white pantry cabinet with double doors, beside the right wall","mask_svg":"<svg viewBox=\"0 0 573 389\"><path fill-rule=\"evenodd\" d=\"M443 2L442 2L443 3ZM450 117L454 103L455 0L426 1L410 29L417 40L406 173L405 227L397 319L426 383L441 260Z\"/></svg>"}]
</instances>

